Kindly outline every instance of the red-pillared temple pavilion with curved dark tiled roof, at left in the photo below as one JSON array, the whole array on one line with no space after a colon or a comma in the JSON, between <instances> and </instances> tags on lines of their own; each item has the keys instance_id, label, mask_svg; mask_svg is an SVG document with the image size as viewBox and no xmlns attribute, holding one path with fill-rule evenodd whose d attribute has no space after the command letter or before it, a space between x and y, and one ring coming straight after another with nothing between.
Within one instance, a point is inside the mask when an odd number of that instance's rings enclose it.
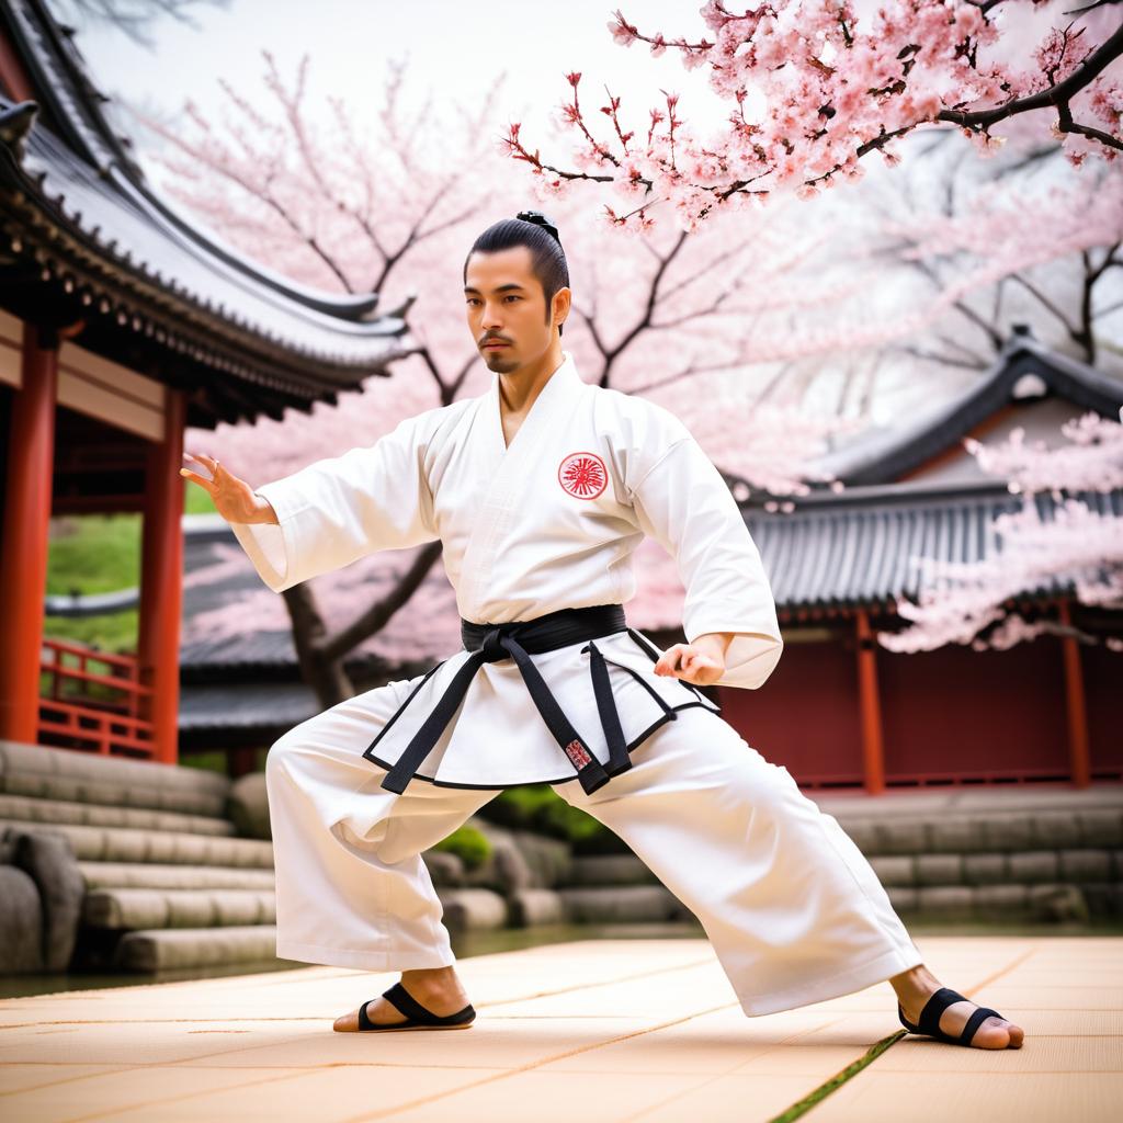
<instances>
[{"instance_id":1,"label":"red-pillared temple pavilion with curved dark tiled roof, at left","mask_svg":"<svg viewBox=\"0 0 1123 1123\"><path fill-rule=\"evenodd\" d=\"M0 7L0 738L174 761L183 431L335 403L401 311L250 263L146 182L70 29ZM143 513L135 656L52 639L48 520Z\"/></svg>"}]
</instances>

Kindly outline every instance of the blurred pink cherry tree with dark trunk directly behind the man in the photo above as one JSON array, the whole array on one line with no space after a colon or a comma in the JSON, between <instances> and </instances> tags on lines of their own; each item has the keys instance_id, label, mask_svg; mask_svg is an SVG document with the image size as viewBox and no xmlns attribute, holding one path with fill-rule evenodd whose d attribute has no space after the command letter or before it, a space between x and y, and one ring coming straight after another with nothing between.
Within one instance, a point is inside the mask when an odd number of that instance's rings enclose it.
<instances>
[{"instance_id":1,"label":"blurred pink cherry tree with dark trunk directly behind the man","mask_svg":"<svg viewBox=\"0 0 1123 1123\"><path fill-rule=\"evenodd\" d=\"M506 162L486 145L483 109L451 126L438 120L431 101L407 112L405 70L395 65L369 138L338 100L329 99L327 121L317 116L307 58L291 81L268 54L264 60L267 102L226 83L229 108L221 121L207 120L191 103L185 124L147 121L165 145L156 157L168 173L165 190L230 243L299 281L377 291L380 309L409 313L418 345L394 364L393 377L369 378L363 393L343 394L335 407L188 433L189 447L218 456L254 483L371 444L404 417L483 392L491 374L450 311L460 305L450 302L462 299L459 271L474 236L526 206L524 189L511 184ZM460 147L449 137L460 138ZM745 376L751 357L746 317L769 284L778 285L806 258L815 239L769 243L761 228L742 229L732 243L714 226L704 238L674 234L663 245L636 243L608 255L587 209L563 208L558 216L578 294L565 344L583 376L623 393L666 395L668 404L681 394L679 412L742 491L750 484L804 487L806 462L843 422L809 417L796 403L754 408L755 393L769 393L769 382L761 378L757 387ZM769 250L764 257L763 247ZM384 551L285 591L280 603L302 675L322 704L354 693L344 659L356 650L390 650L401 663L458 642L451 591L430 573L439 556L439 542ZM236 559L219 551L195 579L219 581ZM197 617L193 627L212 639L247 626L280 627L277 604L263 588L236 611L223 605Z\"/></svg>"}]
</instances>

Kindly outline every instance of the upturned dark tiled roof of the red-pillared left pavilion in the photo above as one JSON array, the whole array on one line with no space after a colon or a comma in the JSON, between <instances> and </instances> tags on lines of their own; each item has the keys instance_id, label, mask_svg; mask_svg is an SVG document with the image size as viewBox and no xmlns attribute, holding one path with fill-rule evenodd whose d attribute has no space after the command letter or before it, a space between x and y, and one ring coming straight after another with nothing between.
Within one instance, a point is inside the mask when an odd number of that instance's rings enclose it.
<instances>
[{"instance_id":1,"label":"upturned dark tiled roof of the red-pillared left pavilion","mask_svg":"<svg viewBox=\"0 0 1123 1123\"><path fill-rule=\"evenodd\" d=\"M405 308L303 287L152 189L69 29L42 0L0 8L0 305L153 377L207 393L189 424L335 403L412 351Z\"/></svg>"}]
</instances>

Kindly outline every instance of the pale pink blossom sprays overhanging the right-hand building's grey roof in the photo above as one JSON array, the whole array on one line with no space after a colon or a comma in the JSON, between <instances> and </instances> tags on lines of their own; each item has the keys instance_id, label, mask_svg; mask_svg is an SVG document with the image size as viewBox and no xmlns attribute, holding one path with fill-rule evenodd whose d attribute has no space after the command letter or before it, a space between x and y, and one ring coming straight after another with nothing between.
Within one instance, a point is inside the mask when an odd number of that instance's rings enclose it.
<instances>
[{"instance_id":1,"label":"pale pink blossom sprays overhanging the right-hand building's grey roof","mask_svg":"<svg viewBox=\"0 0 1123 1123\"><path fill-rule=\"evenodd\" d=\"M946 643L970 643L976 650L1004 649L1042 633L1072 634L1071 626L1048 610L1026 619L1016 601L1026 592L1071 583L1086 605L1123 610L1123 519L1089 493L1123 489L1123 424L1086 413L1061 427L1066 442L1050 448L1025 441L1022 429L994 446L965 440L984 472L1006 476L1022 505L996 517L987 556L978 562L914 558L921 569L915 602L897 602L897 613L912 624L879 631L891 651L923 651ZM1038 497L1053 503L1042 517ZM1095 637L1076 630L1085 642ZM1104 641L1123 651L1123 638Z\"/></svg>"}]
</instances>

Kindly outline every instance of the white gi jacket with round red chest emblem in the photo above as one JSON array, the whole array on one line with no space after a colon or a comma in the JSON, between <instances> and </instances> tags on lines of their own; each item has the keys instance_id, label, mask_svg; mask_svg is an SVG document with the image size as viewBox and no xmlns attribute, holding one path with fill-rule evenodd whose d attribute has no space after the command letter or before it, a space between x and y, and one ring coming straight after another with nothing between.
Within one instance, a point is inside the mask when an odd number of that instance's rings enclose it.
<instances>
[{"instance_id":1,"label":"white gi jacket with round red chest emblem","mask_svg":"<svg viewBox=\"0 0 1123 1123\"><path fill-rule=\"evenodd\" d=\"M760 686L783 640L759 551L721 474L673 413L586 384L573 356L562 354L510 447L495 374L477 398L408 418L373 445L258 487L280 524L234 524L238 541L265 584L281 592L374 550L439 538L460 615L505 623L627 602L636 593L632 553L648 535L677 564L687 640L734 633L718 684ZM595 642L629 750L677 710L718 709L690 684L656 675L651 656L628 632ZM604 764L582 648L587 643L536 655L533 663ZM400 712L381 731L373 759L384 767L398 759L467 657L462 649L426 675L377 687L393 692L392 712ZM480 668L417 776L502 788L560 783L575 773L514 663L504 660Z\"/></svg>"}]
</instances>

